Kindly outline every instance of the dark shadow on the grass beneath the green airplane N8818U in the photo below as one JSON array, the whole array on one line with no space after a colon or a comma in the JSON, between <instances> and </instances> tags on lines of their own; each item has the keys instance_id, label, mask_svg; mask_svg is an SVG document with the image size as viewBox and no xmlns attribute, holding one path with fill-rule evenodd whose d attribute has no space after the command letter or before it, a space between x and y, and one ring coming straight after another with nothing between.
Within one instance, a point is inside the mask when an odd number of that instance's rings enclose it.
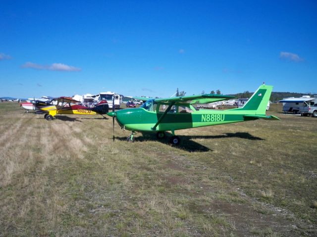
<instances>
[{"instance_id":1,"label":"dark shadow on the grass beneath the green airplane N8818U","mask_svg":"<svg viewBox=\"0 0 317 237\"><path fill-rule=\"evenodd\" d=\"M212 149L194 142L192 139L221 139L221 138L241 138L241 139L248 139L248 140L256 140L256 141L262 141L264 139L258 138L255 136L252 136L249 133L225 133L223 135L214 135L214 136L179 136L181 139L181 142L179 145L174 146L182 150L186 150L188 152L206 152L206 151L212 151ZM166 132L166 137L163 139L157 139L156 134L154 133L142 133L142 137L137 137L137 142L146 142L146 141L158 141L163 144L171 145L169 143L169 139L171 138L171 134ZM115 140L119 141L126 141L127 137L115 137Z\"/></svg>"}]
</instances>

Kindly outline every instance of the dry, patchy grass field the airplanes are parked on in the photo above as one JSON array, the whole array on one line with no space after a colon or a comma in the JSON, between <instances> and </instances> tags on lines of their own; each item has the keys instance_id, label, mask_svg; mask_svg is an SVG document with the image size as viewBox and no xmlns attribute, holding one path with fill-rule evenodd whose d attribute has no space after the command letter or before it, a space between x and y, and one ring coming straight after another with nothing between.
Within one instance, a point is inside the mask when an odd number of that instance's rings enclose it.
<instances>
[{"instance_id":1,"label":"dry, patchy grass field the airplanes are parked on","mask_svg":"<svg viewBox=\"0 0 317 237\"><path fill-rule=\"evenodd\" d=\"M317 236L317 119L278 111L171 146L0 103L0 236Z\"/></svg>"}]
</instances>

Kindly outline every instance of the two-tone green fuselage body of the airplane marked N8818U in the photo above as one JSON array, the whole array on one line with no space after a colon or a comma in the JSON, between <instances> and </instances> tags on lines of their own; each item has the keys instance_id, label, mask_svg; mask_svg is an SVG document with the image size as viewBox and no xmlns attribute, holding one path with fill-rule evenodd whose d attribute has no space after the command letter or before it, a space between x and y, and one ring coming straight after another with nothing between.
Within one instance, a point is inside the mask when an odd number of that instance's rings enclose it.
<instances>
[{"instance_id":1,"label":"two-tone green fuselage body of the airplane marked N8818U","mask_svg":"<svg viewBox=\"0 0 317 237\"><path fill-rule=\"evenodd\" d=\"M249 111L233 110L193 110L186 113L166 113L156 129L163 112L148 111L144 108L133 108L116 111L118 124L131 131L173 131L198 128L211 125L237 123L257 118L244 117Z\"/></svg>"}]
</instances>

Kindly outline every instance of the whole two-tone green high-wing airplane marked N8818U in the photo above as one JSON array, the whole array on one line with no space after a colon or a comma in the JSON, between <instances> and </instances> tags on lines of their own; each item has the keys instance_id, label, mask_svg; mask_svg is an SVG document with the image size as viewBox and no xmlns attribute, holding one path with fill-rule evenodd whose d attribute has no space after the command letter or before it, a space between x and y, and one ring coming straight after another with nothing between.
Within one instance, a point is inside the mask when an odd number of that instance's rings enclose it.
<instances>
[{"instance_id":1,"label":"whole two-tone green high-wing airplane marked N8818U","mask_svg":"<svg viewBox=\"0 0 317 237\"><path fill-rule=\"evenodd\" d=\"M171 131L172 144L179 144L180 138L175 130L198 128L211 125L244 122L256 119L279 120L265 115L266 106L273 87L262 85L242 108L227 110L196 109L193 104L211 103L234 98L229 95L188 95L171 98L145 98L139 108L122 109L107 113L114 118L121 129L132 131L127 141L134 142L136 131L156 132L157 138L165 137L165 131ZM113 127L114 130L114 127ZM114 136L113 136L114 139Z\"/></svg>"}]
</instances>

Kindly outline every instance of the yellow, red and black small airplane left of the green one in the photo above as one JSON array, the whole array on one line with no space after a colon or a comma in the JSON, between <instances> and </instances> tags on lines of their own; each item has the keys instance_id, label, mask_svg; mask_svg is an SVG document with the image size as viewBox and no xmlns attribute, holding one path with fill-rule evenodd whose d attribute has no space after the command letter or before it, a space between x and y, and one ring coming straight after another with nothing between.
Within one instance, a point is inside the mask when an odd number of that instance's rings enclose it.
<instances>
[{"instance_id":1,"label":"yellow, red and black small airplane left of the green one","mask_svg":"<svg viewBox=\"0 0 317 237\"><path fill-rule=\"evenodd\" d=\"M57 100L56 105L53 104L53 100ZM36 107L46 111L44 118L49 121L52 120L56 114L103 115L109 111L108 103L105 100L100 101L95 107L86 107L80 105L80 101L77 101L71 97L61 96L54 98L53 100L50 102L35 103Z\"/></svg>"}]
</instances>

